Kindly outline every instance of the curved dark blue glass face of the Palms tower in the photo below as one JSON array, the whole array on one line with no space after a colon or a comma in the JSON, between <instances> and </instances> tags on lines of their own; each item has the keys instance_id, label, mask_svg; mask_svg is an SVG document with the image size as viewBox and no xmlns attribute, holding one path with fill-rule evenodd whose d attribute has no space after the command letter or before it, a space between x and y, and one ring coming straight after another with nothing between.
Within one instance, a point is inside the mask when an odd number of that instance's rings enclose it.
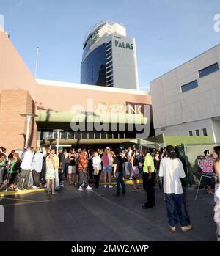
<instances>
[{"instance_id":1,"label":"curved dark blue glass face of the Palms tower","mask_svg":"<svg viewBox=\"0 0 220 256\"><path fill-rule=\"evenodd\" d=\"M95 48L81 62L81 84L106 86L106 44Z\"/></svg>"}]
</instances>

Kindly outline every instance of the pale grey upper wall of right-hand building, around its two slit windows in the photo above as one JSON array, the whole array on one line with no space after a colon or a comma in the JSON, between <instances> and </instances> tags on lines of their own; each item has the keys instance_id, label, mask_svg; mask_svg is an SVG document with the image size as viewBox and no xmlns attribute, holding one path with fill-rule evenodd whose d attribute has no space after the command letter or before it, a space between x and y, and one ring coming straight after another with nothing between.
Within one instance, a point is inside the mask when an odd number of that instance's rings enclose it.
<instances>
[{"instance_id":1,"label":"pale grey upper wall of right-hand building, around its two slit windows","mask_svg":"<svg viewBox=\"0 0 220 256\"><path fill-rule=\"evenodd\" d=\"M150 83L156 129L220 116L220 71L198 74L216 62L220 67L220 45ZM199 87L182 93L181 86L194 80Z\"/></svg>"}]
</instances>

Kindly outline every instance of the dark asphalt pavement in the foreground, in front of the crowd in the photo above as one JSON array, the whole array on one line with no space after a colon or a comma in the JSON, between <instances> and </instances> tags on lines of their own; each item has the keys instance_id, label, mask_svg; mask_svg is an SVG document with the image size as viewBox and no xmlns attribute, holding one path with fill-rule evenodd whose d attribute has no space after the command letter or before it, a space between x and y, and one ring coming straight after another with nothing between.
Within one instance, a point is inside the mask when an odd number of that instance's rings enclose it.
<instances>
[{"instance_id":1,"label":"dark asphalt pavement in the foreground, in front of the crowd","mask_svg":"<svg viewBox=\"0 0 220 256\"><path fill-rule=\"evenodd\" d=\"M73 186L59 194L45 191L0 197L5 222L0 223L0 241L216 241L213 197L199 190L188 190L194 230L169 231L164 196L157 188L156 206L142 210L145 192L139 185L127 194L113 197L116 188L78 191Z\"/></svg>"}]
</instances>

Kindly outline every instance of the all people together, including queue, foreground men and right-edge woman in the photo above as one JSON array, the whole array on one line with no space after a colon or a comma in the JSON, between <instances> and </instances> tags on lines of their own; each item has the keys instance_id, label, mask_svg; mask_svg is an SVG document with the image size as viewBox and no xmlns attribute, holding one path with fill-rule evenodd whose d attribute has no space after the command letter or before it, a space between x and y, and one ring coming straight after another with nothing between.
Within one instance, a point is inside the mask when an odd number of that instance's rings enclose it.
<instances>
[{"instance_id":1,"label":"all people together, including queue, foreground men and right-edge woman","mask_svg":"<svg viewBox=\"0 0 220 256\"><path fill-rule=\"evenodd\" d=\"M220 182L220 146L214 147L214 167ZM47 194L57 194L64 181L68 186L76 186L78 191L91 190L92 184L98 189L100 175L103 176L103 186L112 189L112 181L116 180L115 197L126 193L125 177L133 180L133 189L138 189L136 180L142 177L143 188L146 191L146 202L143 209L155 206L155 183L164 189L164 200L169 228L176 230L180 222L181 230L192 229L188 215L186 197L186 181L188 175L186 163L178 158L178 151L171 145L160 151L142 147L115 148L106 147L98 150L87 150L85 147L69 152L59 147L47 150L31 147L18 153L0 147L0 189L10 190L46 188ZM91 186L90 186L91 185ZM216 205L220 204L217 198ZM219 211L219 208L216 210ZM216 235L220 240L220 227L217 223Z\"/></svg>"}]
</instances>

